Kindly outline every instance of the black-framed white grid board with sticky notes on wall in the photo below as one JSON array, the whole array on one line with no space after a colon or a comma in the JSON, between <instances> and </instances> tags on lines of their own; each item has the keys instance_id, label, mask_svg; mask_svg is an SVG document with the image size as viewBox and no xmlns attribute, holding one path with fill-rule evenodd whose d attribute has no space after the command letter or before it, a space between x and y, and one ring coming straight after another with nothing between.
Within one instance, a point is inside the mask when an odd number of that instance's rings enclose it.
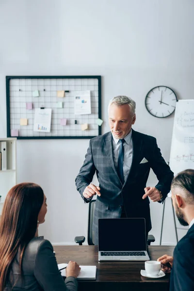
<instances>
[{"instance_id":1,"label":"black-framed white grid board with sticky notes on wall","mask_svg":"<svg viewBox=\"0 0 194 291\"><path fill-rule=\"evenodd\" d=\"M76 92L88 90L91 114L75 114ZM7 137L88 139L101 134L101 76L6 76L6 98ZM35 109L51 109L50 132L33 130Z\"/></svg>"}]
</instances>

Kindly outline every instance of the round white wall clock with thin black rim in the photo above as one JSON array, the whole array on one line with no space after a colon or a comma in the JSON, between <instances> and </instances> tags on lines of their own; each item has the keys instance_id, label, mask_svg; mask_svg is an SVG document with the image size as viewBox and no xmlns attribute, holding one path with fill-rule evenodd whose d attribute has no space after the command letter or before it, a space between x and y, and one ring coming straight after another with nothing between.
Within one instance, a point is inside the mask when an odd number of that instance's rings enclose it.
<instances>
[{"instance_id":1,"label":"round white wall clock with thin black rim","mask_svg":"<svg viewBox=\"0 0 194 291\"><path fill-rule=\"evenodd\" d=\"M172 89L166 86L158 86L147 93L146 109L155 117L167 117L175 111L177 100L177 96Z\"/></svg>"}]
</instances>

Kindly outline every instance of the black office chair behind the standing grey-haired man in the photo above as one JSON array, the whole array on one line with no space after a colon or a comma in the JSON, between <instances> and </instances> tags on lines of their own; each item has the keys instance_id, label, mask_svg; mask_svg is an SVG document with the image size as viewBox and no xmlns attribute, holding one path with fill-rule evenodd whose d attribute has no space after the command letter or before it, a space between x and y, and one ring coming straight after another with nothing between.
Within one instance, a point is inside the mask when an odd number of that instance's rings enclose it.
<instances>
[{"instance_id":1,"label":"black office chair behind the standing grey-haired man","mask_svg":"<svg viewBox=\"0 0 194 291\"><path fill-rule=\"evenodd\" d=\"M96 200L91 200L89 202L89 213L88 213L88 245L94 245L94 237L92 232L92 225L93 225L93 215L96 205ZM85 242L84 236L77 236L75 237L75 242L82 245ZM150 245L151 242L155 242L155 237L152 234L148 234L147 236L147 245Z\"/></svg>"}]
</instances>

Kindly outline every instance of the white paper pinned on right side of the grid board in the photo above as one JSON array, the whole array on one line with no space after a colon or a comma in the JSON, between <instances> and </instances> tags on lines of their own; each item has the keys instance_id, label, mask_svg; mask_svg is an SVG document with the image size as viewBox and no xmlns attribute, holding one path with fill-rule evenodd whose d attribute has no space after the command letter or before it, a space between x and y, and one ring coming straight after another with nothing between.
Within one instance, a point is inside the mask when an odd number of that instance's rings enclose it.
<instances>
[{"instance_id":1,"label":"white paper pinned on right side of the grid board","mask_svg":"<svg viewBox=\"0 0 194 291\"><path fill-rule=\"evenodd\" d=\"M91 96L90 90L77 91L74 94L74 113L91 114Z\"/></svg>"}]
</instances>

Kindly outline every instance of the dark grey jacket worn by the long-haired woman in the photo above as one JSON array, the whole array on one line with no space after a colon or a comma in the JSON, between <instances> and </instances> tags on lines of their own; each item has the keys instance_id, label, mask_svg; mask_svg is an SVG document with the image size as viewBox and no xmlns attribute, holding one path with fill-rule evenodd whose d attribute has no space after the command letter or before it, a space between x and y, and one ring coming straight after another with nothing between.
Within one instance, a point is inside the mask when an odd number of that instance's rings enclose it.
<instances>
[{"instance_id":1,"label":"dark grey jacket worn by the long-haired woman","mask_svg":"<svg viewBox=\"0 0 194 291\"><path fill-rule=\"evenodd\" d=\"M59 272L53 247L47 240L32 239L26 247L22 269L23 281L19 270L19 253L12 264L10 281L5 291L76 291L77 280L74 277L64 279ZM14 286L14 287L13 287Z\"/></svg>"}]
</instances>

